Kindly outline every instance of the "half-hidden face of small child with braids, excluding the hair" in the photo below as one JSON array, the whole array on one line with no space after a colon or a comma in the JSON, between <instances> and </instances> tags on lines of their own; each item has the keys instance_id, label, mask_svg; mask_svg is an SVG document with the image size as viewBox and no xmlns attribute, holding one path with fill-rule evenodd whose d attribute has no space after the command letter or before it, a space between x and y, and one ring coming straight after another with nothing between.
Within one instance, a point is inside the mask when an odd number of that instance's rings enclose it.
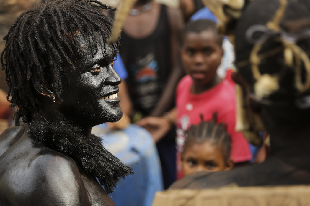
<instances>
[{"instance_id":1,"label":"half-hidden face of small child with braids, excluding the hair","mask_svg":"<svg viewBox=\"0 0 310 206\"><path fill-rule=\"evenodd\" d=\"M225 161L220 145L210 141L189 145L183 152L181 164L184 176L199 171L230 170L233 166L230 159Z\"/></svg>"}]
</instances>

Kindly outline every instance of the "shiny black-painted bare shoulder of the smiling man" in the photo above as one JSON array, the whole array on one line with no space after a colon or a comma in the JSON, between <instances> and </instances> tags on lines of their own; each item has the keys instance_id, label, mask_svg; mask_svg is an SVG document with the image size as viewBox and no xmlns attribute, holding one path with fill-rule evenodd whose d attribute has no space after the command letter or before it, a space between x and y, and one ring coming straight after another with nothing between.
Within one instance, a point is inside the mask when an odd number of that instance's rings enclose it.
<instances>
[{"instance_id":1,"label":"shiny black-painted bare shoulder of the smiling man","mask_svg":"<svg viewBox=\"0 0 310 206\"><path fill-rule=\"evenodd\" d=\"M0 157L0 173L0 205L90 205L73 159L31 138Z\"/></svg>"}]
</instances>

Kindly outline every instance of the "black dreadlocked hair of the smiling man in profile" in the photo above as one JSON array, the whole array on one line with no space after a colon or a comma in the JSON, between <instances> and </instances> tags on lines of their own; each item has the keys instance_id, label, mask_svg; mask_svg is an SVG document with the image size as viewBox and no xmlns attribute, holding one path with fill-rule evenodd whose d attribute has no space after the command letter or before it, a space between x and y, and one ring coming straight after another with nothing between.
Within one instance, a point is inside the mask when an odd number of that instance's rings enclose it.
<instances>
[{"instance_id":1,"label":"black dreadlocked hair of the smiling man in profile","mask_svg":"<svg viewBox=\"0 0 310 206\"><path fill-rule=\"evenodd\" d=\"M31 114L40 107L39 93L53 93L62 101L62 65L74 68L72 60L81 53L76 34L88 40L93 56L98 50L95 32L104 39L111 34L113 21L103 9L116 10L97 0L51 0L15 20L3 38L1 64L16 125L20 120L31 121ZM110 45L117 54L118 39Z\"/></svg>"}]
</instances>

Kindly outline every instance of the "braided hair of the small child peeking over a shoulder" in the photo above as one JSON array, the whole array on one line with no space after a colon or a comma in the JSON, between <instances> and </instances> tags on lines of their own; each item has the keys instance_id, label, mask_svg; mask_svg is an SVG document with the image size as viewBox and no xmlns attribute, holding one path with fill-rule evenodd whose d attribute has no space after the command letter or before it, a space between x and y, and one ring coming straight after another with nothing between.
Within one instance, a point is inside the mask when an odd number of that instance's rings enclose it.
<instances>
[{"instance_id":1,"label":"braided hair of the small child peeking over a shoulder","mask_svg":"<svg viewBox=\"0 0 310 206\"><path fill-rule=\"evenodd\" d=\"M227 133L227 125L224 123L217 124L217 112L213 113L211 121L203 121L201 116L201 123L192 125L188 131L185 132L186 140L184 142L183 152L186 151L188 146L193 143L201 143L211 141L216 145L220 145L224 154L225 160L230 157L231 138Z\"/></svg>"}]
</instances>

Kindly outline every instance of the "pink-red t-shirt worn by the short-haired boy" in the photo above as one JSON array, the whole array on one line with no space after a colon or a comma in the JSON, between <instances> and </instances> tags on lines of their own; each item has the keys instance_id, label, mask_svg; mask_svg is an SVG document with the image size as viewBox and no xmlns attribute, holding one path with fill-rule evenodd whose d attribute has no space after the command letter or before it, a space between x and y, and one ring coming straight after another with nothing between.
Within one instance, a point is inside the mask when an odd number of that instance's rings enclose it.
<instances>
[{"instance_id":1,"label":"pink-red t-shirt worn by the short-haired boy","mask_svg":"<svg viewBox=\"0 0 310 206\"><path fill-rule=\"evenodd\" d=\"M250 147L241 132L235 131L236 124L236 91L235 87L227 80L206 90L200 94L191 93L193 79L186 75L183 77L176 89L176 108L177 108L177 171L181 178L180 153L184 145L184 131L190 126L201 122L200 114L204 120L211 120L213 112L217 112L218 123L227 124L227 131L232 139L232 149L230 157L234 162L249 161L252 158Z\"/></svg>"}]
</instances>

